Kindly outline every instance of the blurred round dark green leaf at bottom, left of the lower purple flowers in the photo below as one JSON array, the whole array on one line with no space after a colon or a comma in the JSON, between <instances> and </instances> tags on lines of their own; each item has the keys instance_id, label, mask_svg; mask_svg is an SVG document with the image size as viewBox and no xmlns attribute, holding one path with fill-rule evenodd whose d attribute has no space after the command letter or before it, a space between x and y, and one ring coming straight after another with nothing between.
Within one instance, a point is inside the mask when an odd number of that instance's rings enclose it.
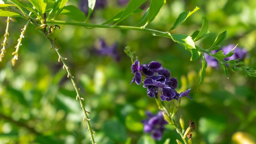
<instances>
[{"instance_id":1,"label":"blurred round dark green leaf at bottom, left of the lower purple flowers","mask_svg":"<svg viewBox=\"0 0 256 144\"><path fill-rule=\"evenodd\" d=\"M104 122L103 131L107 137L116 142L125 142L127 139L126 128L119 121Z\"/></svg>"}]
</instances>

